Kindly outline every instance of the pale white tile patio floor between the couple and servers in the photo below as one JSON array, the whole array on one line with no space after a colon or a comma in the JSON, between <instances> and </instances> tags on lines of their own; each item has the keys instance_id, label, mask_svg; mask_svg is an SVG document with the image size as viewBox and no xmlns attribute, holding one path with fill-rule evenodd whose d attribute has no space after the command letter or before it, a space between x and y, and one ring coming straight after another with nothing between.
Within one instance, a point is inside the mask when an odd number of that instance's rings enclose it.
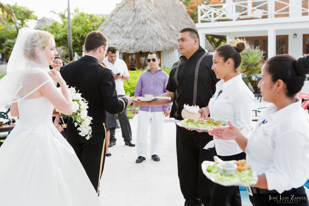
<instances>
[{"instance_id":1,"label":"pale white tile patio floor between the couple and servers","mask_svg":"<svg viewBox=\"0 0 309 206\"><path fill-rule=\"evenodd\" d=\"M255 98L253 109L268 105ZM255 116L255 113L252 115ZM130 120L133 143L136 143L137 119L138 114ZM146 160L135 163L136 147L124 144L121 130L116 130L116 138L116 145L109 148L112 156L105 159L100 183L100 199L104 206L184 205L177 176L175 123L164 124L163 149L159 162L151 159L148 148ZM251 205L246 192L242 192L242 201L243 206Z\"/></svg>"}]
</instances>

